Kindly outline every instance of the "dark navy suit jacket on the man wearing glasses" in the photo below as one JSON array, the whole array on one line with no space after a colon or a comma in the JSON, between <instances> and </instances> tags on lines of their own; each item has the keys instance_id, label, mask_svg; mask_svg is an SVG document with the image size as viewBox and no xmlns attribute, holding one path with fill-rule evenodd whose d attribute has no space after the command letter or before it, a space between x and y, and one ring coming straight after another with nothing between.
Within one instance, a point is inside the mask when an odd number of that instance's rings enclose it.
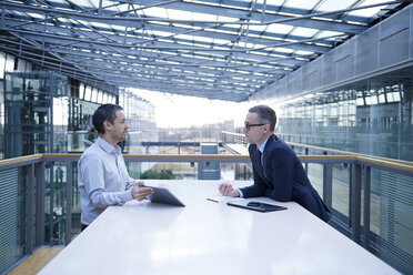
<instances>
[{"instance_id":1,"label":"dark navy suit jacket on the man wearing glasses","mask_svg":"<svg viewBox=\"0 0 413 275\"><path fill-rule=\"evenodd\" d=\"M254 184L241 189L244 197L268 196L280 202L298 202L321 220L330 220L329 208L311 185L299 157L285 142L274 134L269 138L263 153L263 169L255 144L250 145L249 152Z\"/></svg>"}]
</instances>

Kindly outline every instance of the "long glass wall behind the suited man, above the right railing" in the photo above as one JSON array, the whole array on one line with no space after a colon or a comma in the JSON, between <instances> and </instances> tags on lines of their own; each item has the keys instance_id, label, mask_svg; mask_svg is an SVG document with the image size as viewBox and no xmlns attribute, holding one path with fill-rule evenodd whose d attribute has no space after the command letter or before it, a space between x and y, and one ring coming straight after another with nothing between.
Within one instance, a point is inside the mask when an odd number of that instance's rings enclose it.
<instances>
[{"instance_id":1,"label":"long glass wall behind the suited man, above the right railing","mask_svg":"<svg viewBox=\"0 0 413 275\"><path fill-rule=\"evenodd\" d=\"M279 104L276 132L285 141L413 161L411 75L404 69Z\"/></svg>"}]
</instances>

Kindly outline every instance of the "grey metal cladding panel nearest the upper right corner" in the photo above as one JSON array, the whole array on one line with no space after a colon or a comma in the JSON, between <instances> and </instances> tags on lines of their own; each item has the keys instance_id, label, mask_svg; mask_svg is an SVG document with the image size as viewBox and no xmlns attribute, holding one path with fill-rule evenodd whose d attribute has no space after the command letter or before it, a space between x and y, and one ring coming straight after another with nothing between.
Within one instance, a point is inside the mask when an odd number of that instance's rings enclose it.
<instances>
[{"instance_id":1,"label":"grey metal cladding panel nearest the upper right corner","mask_svg":"<svg viewBox=\"0 0 413 275\"><path fill-rule=\"evenodd\" d=\"M410 9L380 24L380 67L409 60Z\"/></svg>"}]
</instances>

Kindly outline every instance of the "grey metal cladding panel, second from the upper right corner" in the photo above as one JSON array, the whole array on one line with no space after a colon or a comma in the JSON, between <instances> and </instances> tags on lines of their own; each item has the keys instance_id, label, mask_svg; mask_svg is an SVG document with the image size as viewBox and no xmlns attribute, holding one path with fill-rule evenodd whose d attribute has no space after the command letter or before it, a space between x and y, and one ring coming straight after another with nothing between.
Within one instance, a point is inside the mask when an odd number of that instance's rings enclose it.
<instances>
[{"instance_id":1,"label":"grey metal cladding panel, second from the upper right corner","mask_svg":"<svg viewBox=\"0 0 413 275\"><path fill-rule=\"evenodd\" d=\"M379 27L373 27L355 39L355 74L377 69Z\"/></svg>"}]
</instances>

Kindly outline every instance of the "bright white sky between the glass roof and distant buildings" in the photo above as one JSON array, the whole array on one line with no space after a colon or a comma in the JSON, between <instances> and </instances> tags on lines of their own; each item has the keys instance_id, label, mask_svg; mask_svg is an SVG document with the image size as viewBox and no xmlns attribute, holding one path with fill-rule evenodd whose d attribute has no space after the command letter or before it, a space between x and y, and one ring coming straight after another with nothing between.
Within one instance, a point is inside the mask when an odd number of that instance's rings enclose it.
<instances>
[{"instance_id":1,"label":"bright white sky between the glass roof and distant buildings","mask_svg":"<svg viewBox=\"0 0 413 275\"><path fill-rule=\"evenodd\" d=\"M208 100L179 94L133 90L154 105L159 128L185 128L234 120L235 126L243 121L251 103Z\"/></svg>"}]
</instances>

